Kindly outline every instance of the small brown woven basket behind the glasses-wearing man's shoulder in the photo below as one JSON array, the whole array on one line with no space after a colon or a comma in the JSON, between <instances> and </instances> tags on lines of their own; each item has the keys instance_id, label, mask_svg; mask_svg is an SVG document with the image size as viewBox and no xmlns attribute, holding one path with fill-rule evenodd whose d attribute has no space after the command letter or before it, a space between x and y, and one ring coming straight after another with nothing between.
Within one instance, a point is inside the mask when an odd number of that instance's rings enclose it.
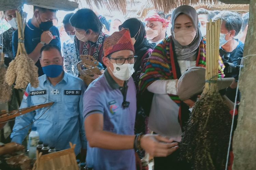
<instances>
[{"instance_id":1,"label":"small brown woven basket behind the glasses-wearing man's shoulder","mask_svg":"<svg viewBox=\"0 0 256 170\"><path fill-rule=\"evenodd\" d=\"M97 67L99 62L90 55L80 55L81 61L77 63L77 69L81 75L81 79L86 85L89 85L93 82L96 75L101 75L100 69ZM85 67L85 69L82 69Z\"/></svg>"}]
</instances>

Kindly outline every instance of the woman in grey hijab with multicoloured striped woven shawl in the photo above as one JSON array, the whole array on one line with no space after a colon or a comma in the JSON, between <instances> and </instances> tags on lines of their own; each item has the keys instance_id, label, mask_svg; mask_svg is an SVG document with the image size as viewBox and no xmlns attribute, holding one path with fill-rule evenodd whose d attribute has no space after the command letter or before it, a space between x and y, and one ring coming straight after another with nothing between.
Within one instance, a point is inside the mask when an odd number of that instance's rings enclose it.
<instances>
[{"instance_id":1,"label":"woman in grey hijab with multicoloured striped woven shawl","mask_svg":"<svg viewBox=\"0 0 256 170\"><path fill-rule=\"evenodd\" d=\"M177 80L190 67L205 67L205 39L198 29L196 10L188 5L177 7L171 17L171 36L153 50L142 71L139 88L142 95L151 92L152 105L148 126L155 133L181 140L189 117L189 108L176 93ZM219 58L219 77L224 65ZM149 91L149 92L148 92ZM147 95L147 98L148 95ZM176 151L168 157L154 158L154 169L189 169L177 161Z\"/></svg>"}]
</instances>

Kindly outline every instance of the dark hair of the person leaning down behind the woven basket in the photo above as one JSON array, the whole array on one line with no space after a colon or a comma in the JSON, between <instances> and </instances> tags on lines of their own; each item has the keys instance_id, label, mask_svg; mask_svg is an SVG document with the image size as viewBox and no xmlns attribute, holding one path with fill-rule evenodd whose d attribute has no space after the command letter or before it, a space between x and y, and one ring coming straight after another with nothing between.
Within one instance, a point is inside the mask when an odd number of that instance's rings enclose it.
<instances>
[{"instance_id":1,"label":"dark hair of the person leaning down behind the woven basket","mask_svg":"<svg viewBox=\"0 0 256 170\"><path fill-rule=\"evenodd\" d=\"M85 31L91 29L98 34L101 33L103 27L97 15L87 8L76 11L76 13L69 19L69 22L72 27L83 29Z\"/></svg>"}]
</instances>

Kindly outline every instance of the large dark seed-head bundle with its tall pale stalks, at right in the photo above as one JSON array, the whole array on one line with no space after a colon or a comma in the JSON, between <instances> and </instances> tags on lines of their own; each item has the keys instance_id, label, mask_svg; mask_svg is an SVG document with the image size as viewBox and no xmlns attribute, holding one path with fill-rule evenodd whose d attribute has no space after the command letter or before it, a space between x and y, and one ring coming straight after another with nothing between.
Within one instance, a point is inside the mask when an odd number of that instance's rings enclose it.
<instances>
[{"instance_id":1,"label":"large dark seed-head bundle with its tall pale stalks, at right","mask_svg":"<svg viewBox=\"0 0 256 170\"><path fill-rule=\"evenodd\" d=\"M194 170L225 168L231 116L217 88L221 21L207 23L206 83L182 134L181 157Z\"/></svg>"}]
</instances>

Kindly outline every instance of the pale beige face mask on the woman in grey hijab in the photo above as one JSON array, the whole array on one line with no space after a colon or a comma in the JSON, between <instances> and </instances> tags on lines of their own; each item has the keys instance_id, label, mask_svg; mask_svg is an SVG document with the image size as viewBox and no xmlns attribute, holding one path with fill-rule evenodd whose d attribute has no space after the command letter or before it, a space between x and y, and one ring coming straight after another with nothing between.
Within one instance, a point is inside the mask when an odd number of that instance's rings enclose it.
<instances>
[{"instance_id":1,"label":"pale beige face mask on the woman in grey hijab","mask_svg":"<svg viewBox=\"0 0 256 170\"><path fill-rule=\"evenodd\" d=\"M174 38L180 43L182 46L189 45L194 38L196 37L196 31L188 32L187 30L181 30L176 33L173 33Z\"/></svg>"}]
</instances>

